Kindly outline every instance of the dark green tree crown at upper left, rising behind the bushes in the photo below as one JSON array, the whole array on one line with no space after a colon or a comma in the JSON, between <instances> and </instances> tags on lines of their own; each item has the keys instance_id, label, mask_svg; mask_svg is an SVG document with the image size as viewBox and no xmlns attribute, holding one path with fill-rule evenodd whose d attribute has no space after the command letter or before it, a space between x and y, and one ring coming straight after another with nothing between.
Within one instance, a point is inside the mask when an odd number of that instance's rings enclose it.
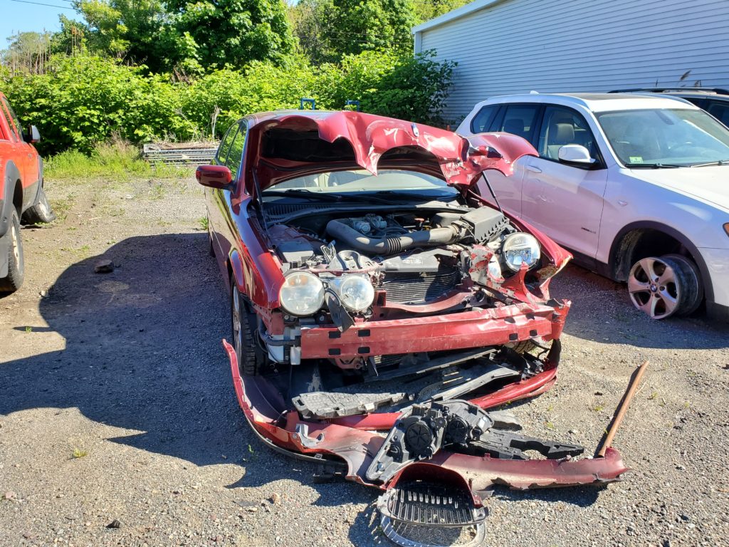
<instances>
[{"instance_id":1,"label":"dark green tree crown at upper left, rising behind the bushes","mask_svg":"<svg viewBox=\"0 0 729 547\"><path fill-rule=\"evenodd\" d=\"M88 50L179 77L281 61L294 47L281 0L77 0L75 6L88 23L77 28ZM78 26L62 23L62 33Z\"/></svg>"}]
</instances>

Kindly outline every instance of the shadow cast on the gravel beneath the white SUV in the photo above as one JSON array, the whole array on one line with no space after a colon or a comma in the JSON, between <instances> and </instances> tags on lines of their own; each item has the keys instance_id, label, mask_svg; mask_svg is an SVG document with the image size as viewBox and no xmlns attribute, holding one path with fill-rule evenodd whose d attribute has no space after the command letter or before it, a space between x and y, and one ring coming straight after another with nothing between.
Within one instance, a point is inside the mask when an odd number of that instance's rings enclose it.
<instances>
[{"instance_id":1,"label":"shadow cast on the gravel beneath the white SUV","mask_svg":"<svg viewBox=\"0 0 729 547\"><path fill-rule=\"evenodd\" d=\"M725 348L729 325L695 317L650 319L628 298L623 283L569 265L551 284L552 295L572 300L564 332L601 344L631 344L660 349Z\"/></svg>"}]
</instances>

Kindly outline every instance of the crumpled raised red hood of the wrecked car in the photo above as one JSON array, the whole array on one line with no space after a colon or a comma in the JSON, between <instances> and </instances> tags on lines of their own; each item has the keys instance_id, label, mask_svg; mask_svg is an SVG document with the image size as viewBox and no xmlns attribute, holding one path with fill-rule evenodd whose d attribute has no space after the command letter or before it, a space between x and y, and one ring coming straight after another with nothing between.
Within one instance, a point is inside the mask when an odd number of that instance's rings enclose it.
<instances>
[{"instance_id":1,"label":"crumpled raised red hood of the wrecked car","mask_svg":"<svg viewBox=\"0 0 729 547\"><path fill-rule=\"evenodd\" d=\"M452 131L362 112L269 112L248 118L246 190L254 194L298 176L363 168L402 168L449 185L472 185L486 169L505 175L523 155L537 155L507 133Z\"/></svg>"}]
</instances>

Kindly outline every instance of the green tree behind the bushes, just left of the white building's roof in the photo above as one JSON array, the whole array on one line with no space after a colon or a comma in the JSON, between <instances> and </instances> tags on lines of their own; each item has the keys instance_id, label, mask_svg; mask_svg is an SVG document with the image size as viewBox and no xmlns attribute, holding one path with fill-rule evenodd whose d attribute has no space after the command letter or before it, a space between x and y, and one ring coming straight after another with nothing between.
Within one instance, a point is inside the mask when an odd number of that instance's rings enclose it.
<instances>
[{"instance_id":1,"label":"green tree behind the bushes, just left of the white building's roof","mask_svg":"<svg viewBox=\"0 0 729 547\"><path fill-rule=\"evenodd\" d=\"M333 0L324 38L341 55L371 50L410 53L415 24L411 0Z\"/></svg>"}]
</instances>

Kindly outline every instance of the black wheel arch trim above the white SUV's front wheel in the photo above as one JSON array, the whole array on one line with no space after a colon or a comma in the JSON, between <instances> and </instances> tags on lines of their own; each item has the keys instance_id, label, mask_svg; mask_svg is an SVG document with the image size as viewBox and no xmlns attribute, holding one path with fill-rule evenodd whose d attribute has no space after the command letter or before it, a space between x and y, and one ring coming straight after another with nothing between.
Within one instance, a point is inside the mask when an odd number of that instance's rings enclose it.
<instances>
[{"instance_id":1,"label":"black wheel arch trim above the white SUV's front wheel","mask_svg":"<svg viewBox=\"0 0 729 547\"><path fill-rule=\"evenodd\" d=\"M630 260L625 261L624 255L626 253L630 253L632 255L638 247L641 238L650 232L668 236L676 241L680 247L685 249L698 267L698 271L701 272L704 296L707 300L713 301L714 289L712 287L712 279L709 276L709 268L706 267L706 262L704 262L701 253L698 252L698 248L690 241L689 238L679 232L679 230L651 220L631 222L631 224L626 225L617 233L617 236L615 236L615 239L612 241L612 246L610 247L610 261L608 264L612 279L617 281L625 281L628 279L628 272L630 271L634 260L631 257Z\"/></svg>"}]
</instances>

